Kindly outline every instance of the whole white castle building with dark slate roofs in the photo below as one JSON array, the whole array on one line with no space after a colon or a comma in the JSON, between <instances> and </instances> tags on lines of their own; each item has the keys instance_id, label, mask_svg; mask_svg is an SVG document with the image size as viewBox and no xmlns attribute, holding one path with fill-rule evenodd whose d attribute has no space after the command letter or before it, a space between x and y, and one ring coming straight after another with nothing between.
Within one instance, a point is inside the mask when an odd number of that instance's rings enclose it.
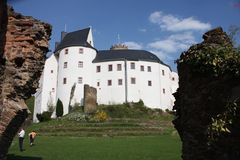
<instances>
[{"instance_id":1,"label":"whole white castle building with dark slate roofs","mask_svg":"<svg viewBox=\"0 0 240 160\"><path fill-rule=\"evenodd\" d=\"M84 84L97 89L98 104L122 104L143 100L150 108L172 109L178 75L156 55L115 45L110 50L94 48L91 28L62 32L61 42L45 63L35 94L36 114L60 99L64 114L71 105L83 104Z\"/></svg>"}]
</instances>

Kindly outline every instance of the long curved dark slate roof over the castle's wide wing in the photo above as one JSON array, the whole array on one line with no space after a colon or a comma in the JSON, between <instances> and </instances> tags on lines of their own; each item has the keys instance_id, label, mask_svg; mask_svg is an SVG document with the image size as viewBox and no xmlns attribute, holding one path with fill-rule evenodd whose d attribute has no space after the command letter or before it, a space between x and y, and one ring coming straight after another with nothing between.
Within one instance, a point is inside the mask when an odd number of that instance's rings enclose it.
<instances>
[{"instance_id":1,"label":"long curved dark slate roof over the castle's wide wing","mask_svg":"<svg viewBox=\"0 0 240 160\"><path fill-rule=\"evenodd\" d=\"M163 65L166 65L156 55L154 55L151 52L148 52L145 50L129 50L129 49L98 51L97 56L93 60L93 63L119 61L119 60L149 61L149 62L157 62Z\"/></svg>"}]
</instances>

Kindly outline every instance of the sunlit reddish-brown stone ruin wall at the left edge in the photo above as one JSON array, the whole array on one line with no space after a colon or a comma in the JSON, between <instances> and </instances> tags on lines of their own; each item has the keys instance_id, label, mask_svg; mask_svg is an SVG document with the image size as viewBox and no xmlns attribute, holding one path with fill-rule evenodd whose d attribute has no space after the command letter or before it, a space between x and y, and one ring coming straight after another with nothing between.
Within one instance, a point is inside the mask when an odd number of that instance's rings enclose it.
<instances>
[{"instance_id":1,"label":"sunlit reddish-brown stone ruin wall at the left edge","mask_svg":"<svg viewBox=\"0 0 240 160\"><path fill-rule=\"evenodd\" d=\"M4 159L29 114L25 100L38 86L51 26L14 12L5 0L0 13L0 159Z\"/></svg>"}]
</instances>

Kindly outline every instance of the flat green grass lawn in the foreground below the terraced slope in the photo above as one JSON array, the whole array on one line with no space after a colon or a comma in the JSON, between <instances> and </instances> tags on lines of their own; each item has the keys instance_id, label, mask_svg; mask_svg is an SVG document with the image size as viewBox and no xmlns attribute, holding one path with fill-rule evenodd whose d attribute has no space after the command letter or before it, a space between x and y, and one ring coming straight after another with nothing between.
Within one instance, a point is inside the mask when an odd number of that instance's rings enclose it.
<instances>
[{"instance_id":1,"label":"flat green grass lawn in the foreground below the terraced slope","mask_svg":"<svg viewBox=\"0 0 240 160\"><path fill-rule=\"evenodd\" d=\"M126 137L38 136L20 152L15 139L9 160L180 160L181 142L177 135Z\"/></svg>"}]
</instances>

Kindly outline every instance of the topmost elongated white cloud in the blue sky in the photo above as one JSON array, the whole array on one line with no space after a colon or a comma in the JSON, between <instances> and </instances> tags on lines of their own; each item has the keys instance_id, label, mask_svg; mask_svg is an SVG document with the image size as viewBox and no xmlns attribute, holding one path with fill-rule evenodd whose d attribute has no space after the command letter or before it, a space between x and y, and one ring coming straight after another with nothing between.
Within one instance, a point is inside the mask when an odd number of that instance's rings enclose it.
<instances>
[{"instance_id":1,"label":"topmost elongated white cloud in the blue sky","mask_svg":"<svg viewBox=\"0 0 240 160\"><path fill-rule=\"evenodd\" d=\"M178 18L171 14L164 14L161 11L153 12L149 16L150 22L158 24L161 29L167 31L187 31L187 30L209 30L211 28L210 23L203 23L193 17Z\"/></svg>"}]
</instances>

